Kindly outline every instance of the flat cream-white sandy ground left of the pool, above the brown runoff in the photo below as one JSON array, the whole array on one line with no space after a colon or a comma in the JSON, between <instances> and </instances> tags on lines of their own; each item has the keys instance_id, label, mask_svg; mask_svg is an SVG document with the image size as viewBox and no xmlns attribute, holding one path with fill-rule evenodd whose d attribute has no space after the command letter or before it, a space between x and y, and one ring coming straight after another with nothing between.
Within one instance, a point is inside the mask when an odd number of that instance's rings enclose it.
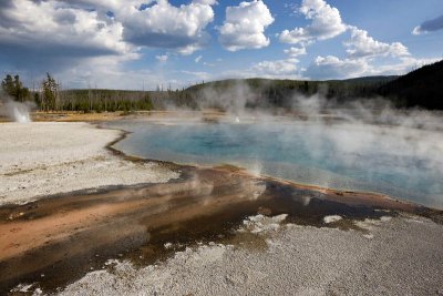
<instances>
[{"instance_id":1,"label":"flat cream-white sandy ground left of the pool, above the brown runoff","mask_svg":"<svg viewBox=\"0 0 443 296\"><path fill-rule=\"evenodd\" d=\"M1 123L0 205L107 185L177 177L154 163L133 163L105 149L120 131L87 123Z\"/></svg>"}]
</instances>

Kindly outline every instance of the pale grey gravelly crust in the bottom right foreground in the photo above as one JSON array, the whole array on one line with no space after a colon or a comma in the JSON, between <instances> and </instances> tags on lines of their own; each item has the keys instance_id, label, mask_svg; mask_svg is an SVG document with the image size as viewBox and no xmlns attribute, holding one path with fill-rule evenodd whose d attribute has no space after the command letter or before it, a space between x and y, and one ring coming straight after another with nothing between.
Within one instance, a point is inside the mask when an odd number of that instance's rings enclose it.
<instances>
[{"instance_id":1,"label":"pale grey gravelly crust in the bottom right foreground","mask_svg":"<svg viewBox=\"0 0 443 296\"><path fill-rule=\"evenodd\" d=\"M202 245L143 268L110 261L104 269L87 274L60 294L443 294L443 227L429 220L359 222L367 232L293 224L277 229L279 221L254 217L243 229L266 241L265 249Z\"/></svg>"}]
</instances>

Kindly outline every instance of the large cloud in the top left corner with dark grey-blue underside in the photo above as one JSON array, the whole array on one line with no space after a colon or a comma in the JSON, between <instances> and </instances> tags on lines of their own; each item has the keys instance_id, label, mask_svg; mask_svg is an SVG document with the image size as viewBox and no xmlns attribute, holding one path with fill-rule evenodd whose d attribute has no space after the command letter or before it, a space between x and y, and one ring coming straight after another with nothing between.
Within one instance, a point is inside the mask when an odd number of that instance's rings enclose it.
<instances>
[{"instance_id":1,"label":"large cloud in the top left corner with dark grey-blue underside","mask_svg":"<svg viewBox=\"0 0 443 296\"><path fill-rule=\"evenodd\" d=\"M0 47L11 62L32 65L45 59L64 62L131 53L123 27L96 11L60 6L55 1L4 1L0 9ZM50 65L50 64L49 64Z\"/></svg>"}]
</instances>

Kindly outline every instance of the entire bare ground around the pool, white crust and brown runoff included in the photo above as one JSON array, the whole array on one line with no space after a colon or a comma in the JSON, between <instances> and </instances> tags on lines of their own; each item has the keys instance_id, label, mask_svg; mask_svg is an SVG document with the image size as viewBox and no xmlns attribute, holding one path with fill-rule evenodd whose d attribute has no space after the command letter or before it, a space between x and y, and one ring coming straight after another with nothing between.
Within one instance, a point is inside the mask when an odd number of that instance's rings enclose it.
<instances>
[{"instance_id":1,"label":"entire bare ground around the pool, white crust and brown runoff included","mask_svg":"<svg viewBox=\"0 0 443 296\"><path fill-rule=\"evenodd\" d=\"M0 125L0 294L439 295L442 213Z\"/></svg>"}]
</instances>

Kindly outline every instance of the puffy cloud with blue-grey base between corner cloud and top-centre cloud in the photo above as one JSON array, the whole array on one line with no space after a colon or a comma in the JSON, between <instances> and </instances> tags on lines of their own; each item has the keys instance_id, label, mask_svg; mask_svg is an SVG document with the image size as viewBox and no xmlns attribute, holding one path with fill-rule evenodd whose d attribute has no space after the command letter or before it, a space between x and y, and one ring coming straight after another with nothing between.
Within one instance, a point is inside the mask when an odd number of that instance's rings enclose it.
<instances>
[{"instance_id":1,"label":"puffy cloud with blue-grey base between corner cloud and top-centre cloud","mask_svg":"<svg viewBox=\"0 0 443 296\"><path fill-rule=\"evenodd\" d=\"M121 17L123 38L136 45L177 49L190 54L209 39L205 28L214 20L214 3L196 0L174 7L167 0L158 0L144 9L133 9Z\"/></svg>"}]
</instances>

